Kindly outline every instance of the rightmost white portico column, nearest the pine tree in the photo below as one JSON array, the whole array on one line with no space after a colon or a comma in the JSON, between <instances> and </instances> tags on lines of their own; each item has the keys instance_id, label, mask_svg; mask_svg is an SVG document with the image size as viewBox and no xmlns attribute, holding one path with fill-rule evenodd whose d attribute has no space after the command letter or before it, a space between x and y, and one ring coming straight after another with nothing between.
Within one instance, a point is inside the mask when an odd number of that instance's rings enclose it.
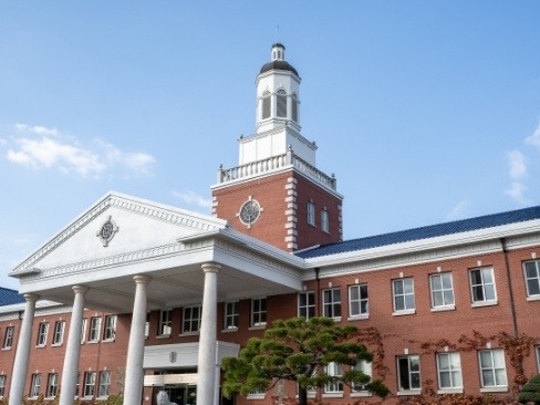
<instances>
[{"instance_id":1,"label":"rightmost white portico column, nearest the pine tree","mask_svg":"<svg viewBox=\"0 0 540 405\"><path fill-rule=\"evenodd\" d=\"M202 319L200 322L199 359L197 362L197 405L215 405L216 398L216 323L218 302L217 263L205 263L205 291L202 293Z\"/></svg>"}]
</instances>

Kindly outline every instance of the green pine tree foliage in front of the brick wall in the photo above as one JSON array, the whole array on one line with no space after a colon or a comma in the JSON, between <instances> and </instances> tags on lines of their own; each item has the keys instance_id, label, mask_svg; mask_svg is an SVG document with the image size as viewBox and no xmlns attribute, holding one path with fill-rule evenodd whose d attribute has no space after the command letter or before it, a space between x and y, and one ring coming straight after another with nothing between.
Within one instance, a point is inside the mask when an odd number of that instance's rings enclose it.
<instances>
[{"instance_id":1,"label":"green pine tree foliage in front of the brick wall","mask_svg":"<svg viewBox=\"0 0 540 405\"><path fill-rule=\"evenodd\" d=\"M351 340L359 335L356 326L336 325L330 318L292 318L273 322L264 338L251 338L238 359L224 359L224 394L247 395L253 390L268 390L280 380L298 383L301 392L341 381L345 384L367 384L370 391L386 396L382 382L352 370L361 360L371 362L373 355L362 343ZM343 376L326 374L330 363L343 365Z\"/></svg>"}]
</instances>

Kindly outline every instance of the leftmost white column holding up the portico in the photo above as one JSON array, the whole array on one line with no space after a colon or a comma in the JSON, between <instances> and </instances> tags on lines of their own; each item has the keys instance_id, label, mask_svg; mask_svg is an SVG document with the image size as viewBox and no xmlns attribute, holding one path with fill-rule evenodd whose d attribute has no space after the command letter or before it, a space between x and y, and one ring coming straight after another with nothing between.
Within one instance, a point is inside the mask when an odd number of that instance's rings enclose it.
<instances>
[{"instance_id":1,"label":"leftmost white column holding up the portico","mask_svg":"<svg viewBox=\"0 0 540 405\"><path fill-rule=\"evenodd\" d=\"M27 300L27 307L24 308L24 318L22 319L21 331L19 333L19 343L17 345L15 361L13 363L13 373L11 377L11 390L9 392L9 403L12 405L22 404L22 397L24 395L35 301L38 301L39 295L24 294L24 299Z\"/></svg>"}]
</instances>

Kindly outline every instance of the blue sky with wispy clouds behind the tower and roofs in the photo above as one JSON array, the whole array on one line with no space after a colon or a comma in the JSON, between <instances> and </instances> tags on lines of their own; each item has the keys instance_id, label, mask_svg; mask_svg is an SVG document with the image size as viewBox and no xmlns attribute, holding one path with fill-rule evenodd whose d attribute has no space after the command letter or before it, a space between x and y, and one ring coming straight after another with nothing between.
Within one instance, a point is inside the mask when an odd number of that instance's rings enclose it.
<instances>
[{"instance_id":1,"label":"blue sky with wispy clouds behind the tower and roofs","mask_svg":"<svg viewBox=\"0 0 540 405\"><path fill-rule=\"evenodd\" d=\"M209 214L277 39L345 239L540 204L538 15L532 0L0 2L0 285L108 190Z\"/></svg>"}]
</instances>

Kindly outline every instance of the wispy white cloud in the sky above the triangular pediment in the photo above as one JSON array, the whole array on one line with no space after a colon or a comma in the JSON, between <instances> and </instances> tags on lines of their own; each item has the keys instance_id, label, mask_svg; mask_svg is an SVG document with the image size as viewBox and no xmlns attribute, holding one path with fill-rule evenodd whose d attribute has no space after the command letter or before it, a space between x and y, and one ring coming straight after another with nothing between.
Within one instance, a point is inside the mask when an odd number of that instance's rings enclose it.
<instances>
[{"instance_id":1,"label":"wispy white cloud in the sky above the triangular pediment","mask_svg":"<svg viewBox=\"0 0 540 405\"><path fill-rule=\"evenodd\" d=\"M65 174L100 177L114 167L129 173L150 175L155 158L141 152L124 152L113 144L94 139L90 146L81 146L75 137L56 128L15 125L7 153L9 162L33 169L55 168Z\"/></svg>"}]
</instances>

